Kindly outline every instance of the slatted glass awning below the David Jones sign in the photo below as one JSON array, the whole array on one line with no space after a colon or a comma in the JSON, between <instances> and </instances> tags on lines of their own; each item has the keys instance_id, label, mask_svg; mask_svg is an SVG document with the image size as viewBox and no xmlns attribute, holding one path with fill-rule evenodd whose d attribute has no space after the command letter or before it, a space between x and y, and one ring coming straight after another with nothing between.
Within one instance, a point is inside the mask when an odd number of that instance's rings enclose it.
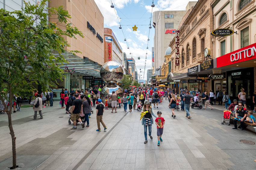
<instances>
[{"instance_id":1,"label":"slatted glass awning below the David Jones sign","mask_svg":"<svg viewBox=\"0 0 256 170\"><path fill-rule=\"evenodd\" d=\"M58 55L58 53L54 53L54 55ZM88 57L81 58L73 55L68 51L65 51L62 55L68 63L64 63L61 68L64 69L67 66L70 70L74 68L74 73L100 77L101 66L97 62L89 60Z\"/></svg>"}]
</instances>

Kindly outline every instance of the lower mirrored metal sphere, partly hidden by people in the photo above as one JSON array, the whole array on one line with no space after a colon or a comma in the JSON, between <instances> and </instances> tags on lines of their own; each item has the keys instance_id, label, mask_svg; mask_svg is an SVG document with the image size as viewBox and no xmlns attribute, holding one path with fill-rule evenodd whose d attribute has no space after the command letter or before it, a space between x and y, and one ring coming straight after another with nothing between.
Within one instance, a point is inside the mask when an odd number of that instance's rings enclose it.
<instances>
[{"instance_id":1,"label":"lower mirrored metal sphere, partly hidden by people","mask_svg":"<svg viewBox=\"0 0 256 170\"><path fill-rule=\"evenodd\" d=\"M117 96L123 97L123 90L118 85L109 84L109 85L104 86L101 89L100 98L101 98L102 101L105 101L106 97L107 97L107 99L108 99L108 107L111 107L112 100L110 99L110 96L112 94L112 91L115 91Z\"/></svg>"}]
</instances>

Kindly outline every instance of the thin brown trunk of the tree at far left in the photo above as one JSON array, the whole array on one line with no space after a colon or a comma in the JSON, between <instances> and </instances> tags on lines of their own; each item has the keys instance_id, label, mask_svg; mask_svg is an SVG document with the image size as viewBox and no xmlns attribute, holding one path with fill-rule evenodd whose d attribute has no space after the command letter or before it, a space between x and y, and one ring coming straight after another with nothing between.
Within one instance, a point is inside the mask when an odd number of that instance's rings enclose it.
<instances>
[{"instance_id":1,"label":"thin brown trunk of the tree at far left","mask_svg":"<svg viewBox=\"0 0 256 170\"><path fill-rule=\"evenodd\" d=\"M11 93L11 86L9 86L10 89L10 93L9 93L9 107L10 109L7 109L7 106L5 104L5 100L2 98L2 96L0 95L0 99L5 107L5 110L7 112L8 115L8 123L9 123L9 130L10 130L10 135L11 135L11 142L12 142L12 168L15 169L16 168L16 137L14 135L14 130L12 127L12 122L11 122L11 112L12 112L12 93Z\"/></svg>"}]
</instances>

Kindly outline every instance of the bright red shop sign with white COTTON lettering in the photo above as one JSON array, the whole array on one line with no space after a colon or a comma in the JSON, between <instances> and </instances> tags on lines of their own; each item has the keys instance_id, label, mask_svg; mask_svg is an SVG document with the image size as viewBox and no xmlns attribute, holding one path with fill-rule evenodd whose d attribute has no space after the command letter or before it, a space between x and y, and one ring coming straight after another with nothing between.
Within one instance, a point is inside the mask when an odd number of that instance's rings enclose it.
<instances>
[{"instance_id":1,"label":"bright red shop sign with white COTTON lettering","mask_svg":"<svg viewBox=\"0 0 256 170\"><path fill-rule=\"evenodd\" d=\"M256 58L256 43L217 58L217 67L236 64Z\"/></svg>"}]
</instances>

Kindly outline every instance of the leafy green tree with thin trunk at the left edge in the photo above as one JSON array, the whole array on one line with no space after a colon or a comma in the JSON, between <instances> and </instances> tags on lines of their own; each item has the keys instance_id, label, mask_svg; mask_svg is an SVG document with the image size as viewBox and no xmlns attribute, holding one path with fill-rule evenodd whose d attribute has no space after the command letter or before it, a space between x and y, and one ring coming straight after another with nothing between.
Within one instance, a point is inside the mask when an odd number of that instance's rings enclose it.
<instances>
[{"instance_id":1,"label":"leafy green tree with thin trunk at the left edge","mask_svg":"<svg viewBox=\"0 0 256 170\"><path fill-rule=\"evenodd\" d=\"M67 63L61 53L70 46L62 35L83 37L82 32L68 22L71 16L67 10L63 7L46 7L46 1L42 0L36 5L24 1L22 11L0 9L0 99L8 115L12 168L16 168L16 137L11 121L12 106L10 104L8 110L5 100L12 103L14 93L22 96L25 92L31 92L33 83L40 84L43 90L47 89L47 84L56 85L56 80L62 79L64 73L61 64L57 63ZM58 19L48 22L48 15ZM63 31L63 27L66 27L66 31ZM53 51L59 55L53 55ZM74 54L79 51L70 52Z\"/></svg>"}]
</instances>

